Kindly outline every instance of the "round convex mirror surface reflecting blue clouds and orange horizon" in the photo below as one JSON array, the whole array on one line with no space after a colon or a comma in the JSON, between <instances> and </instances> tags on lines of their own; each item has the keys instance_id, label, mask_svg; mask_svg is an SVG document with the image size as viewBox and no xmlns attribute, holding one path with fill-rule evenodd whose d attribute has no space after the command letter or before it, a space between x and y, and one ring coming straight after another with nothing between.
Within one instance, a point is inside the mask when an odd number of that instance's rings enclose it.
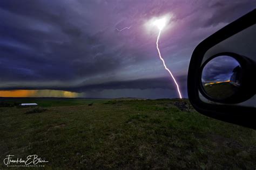
<instances>
[{"instance_id":1,"label":"round convex mirror surface reflecting blue clouds and orange horizon","mask_svg":"<svg viewBox=\"0 0 256 170\"><path fill-rule=\"evenodd\" d=\"M232 56L217 56L204 66L201 82L208 96L225 100L237 93L240 87L241 66Z\"/></svg>"}]
</instances>

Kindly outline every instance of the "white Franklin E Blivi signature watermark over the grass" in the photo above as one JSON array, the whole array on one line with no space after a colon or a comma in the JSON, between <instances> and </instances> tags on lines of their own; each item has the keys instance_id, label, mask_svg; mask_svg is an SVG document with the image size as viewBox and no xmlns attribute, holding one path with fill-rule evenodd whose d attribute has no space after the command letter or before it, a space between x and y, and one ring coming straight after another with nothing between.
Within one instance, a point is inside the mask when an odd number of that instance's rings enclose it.
<instances>
[{"instance_id":1,"label":"white Franklin E Blivi signature watermark over the grass","mask_svg":"<svg viewBox=\"0 0 256 170\"><path fill-rule=\"evenodd\" d=\"M15 158L15 155L6 155L4 165L7 167L44 167L44 163L49 162L38 157L36 154L28 155L26 159Z\"/></svg>"}]
</instances>

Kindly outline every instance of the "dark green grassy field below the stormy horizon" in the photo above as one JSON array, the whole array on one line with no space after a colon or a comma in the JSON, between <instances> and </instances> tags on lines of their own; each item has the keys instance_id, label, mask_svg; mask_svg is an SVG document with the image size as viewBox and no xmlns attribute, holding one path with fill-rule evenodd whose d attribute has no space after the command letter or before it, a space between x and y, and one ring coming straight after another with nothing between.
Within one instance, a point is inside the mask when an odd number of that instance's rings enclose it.
<instances>
[{"instance_id":1,"label":"dark green grassy field below the stormy horizon","mask_svg":"<svg viewBox=\"0 0 256 170\"><path fill-rule=\"evenodd\" d=\"M200 115L187 100L26 101L39 107L0 108L0 169L8 154L37 154L48 169L256 168L255 130Z\"/></svg>"}]
</instances>

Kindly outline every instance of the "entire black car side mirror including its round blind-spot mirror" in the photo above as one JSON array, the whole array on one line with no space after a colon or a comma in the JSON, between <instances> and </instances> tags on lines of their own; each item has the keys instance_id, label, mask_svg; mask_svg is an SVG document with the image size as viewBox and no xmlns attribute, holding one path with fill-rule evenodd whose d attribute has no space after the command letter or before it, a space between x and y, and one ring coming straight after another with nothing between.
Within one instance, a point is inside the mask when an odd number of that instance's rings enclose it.
<instances>
[{"instance_id":1,"label":"entire black car side mirror including its round blind-spot mirror","mask_svg":"<svg viewBox=\"0 0 256 170\"><path fill-rule=\"evenodd\" d=\"M188 98L209 117L256 129L256 9L206 38L188 69Z\"/></svg>"}]
</instances>

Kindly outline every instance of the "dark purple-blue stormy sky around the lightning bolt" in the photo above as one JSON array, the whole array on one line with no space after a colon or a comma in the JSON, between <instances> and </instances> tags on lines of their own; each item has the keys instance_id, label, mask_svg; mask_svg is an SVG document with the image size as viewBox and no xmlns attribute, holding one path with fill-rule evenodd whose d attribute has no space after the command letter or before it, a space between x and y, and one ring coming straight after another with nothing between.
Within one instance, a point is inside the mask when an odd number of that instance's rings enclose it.
<instances>
[{"instance_id":1,"label":"dark purple-blue stormy sky around the lightning bolt","mask_svg":"<svg viewBox=\"0 0 256 170\"><path fill-rule=\"evenodd\" d=\"M199 42L250 12L256 1L0 1L0 90L64 90L80 97L187 97ZM130 27L131 26L131 27ZM119 32L117 29L130 27ZM42 94L42 93L41 93ZM44 96L44 95L42 95Z\"/></svg>"}]
</instances>

